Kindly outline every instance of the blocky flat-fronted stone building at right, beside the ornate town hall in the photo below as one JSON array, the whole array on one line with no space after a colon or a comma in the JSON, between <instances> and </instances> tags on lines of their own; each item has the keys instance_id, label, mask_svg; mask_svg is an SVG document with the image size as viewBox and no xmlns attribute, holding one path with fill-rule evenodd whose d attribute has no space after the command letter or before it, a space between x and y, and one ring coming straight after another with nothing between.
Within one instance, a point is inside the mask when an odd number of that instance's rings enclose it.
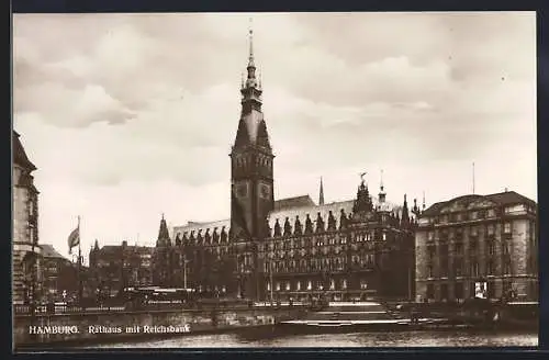
<instances>
[{"instance_id":1,"label":"blocky flat-fronted stone building at right, beside the ornate town hall","mask_svg":"<svg viewBox=\"0 0 549 360\"><path fill-rule=\"evenodd\" d=\"M418 220L415 246L423 301L538 299L537 205L514 191L433 204Z\"/></svg>"}]
</instances>

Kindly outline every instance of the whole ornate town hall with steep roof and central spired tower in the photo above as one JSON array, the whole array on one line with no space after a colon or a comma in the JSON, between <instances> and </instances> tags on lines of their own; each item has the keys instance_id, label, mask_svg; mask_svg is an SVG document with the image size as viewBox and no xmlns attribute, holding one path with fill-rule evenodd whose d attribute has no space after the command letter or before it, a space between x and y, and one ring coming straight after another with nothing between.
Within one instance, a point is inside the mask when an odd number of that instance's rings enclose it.
<instances>
[{"instance_id":1,"label":"whole ornate town hall with steep roof and central spired tower","mask_svg":"<svg viewBox=\"0 0 549 360\"><path fill-rule=\"evenodd\" d=\"M274 200L274 155L250 32L242 113L231 157L231 218L168 229L163 216L154 283L254 300L413 299L414 232L421 209L386 202L382 181L355 199ZM425 200L422 206L425 209ZM171 238L170 238L171 233Z\"/></svg>"}]
</instances>

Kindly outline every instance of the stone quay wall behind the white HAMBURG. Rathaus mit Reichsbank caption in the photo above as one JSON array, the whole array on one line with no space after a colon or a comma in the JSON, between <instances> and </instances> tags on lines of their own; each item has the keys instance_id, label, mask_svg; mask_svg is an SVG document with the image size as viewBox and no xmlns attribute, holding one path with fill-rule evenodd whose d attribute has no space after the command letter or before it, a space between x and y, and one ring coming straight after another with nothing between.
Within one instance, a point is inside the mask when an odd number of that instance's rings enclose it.
<instances>
[{"instance_id":1,"label":"stone quay wall behind the white HAMBURG. Rathaus mit Reichsbank caption","mask_svg":"<svg viewBox=\"0 0 549 360\"><path fill-rule=\"evenodd\" d=\"M271 326L302 316L304 312L303 308L238 308L18 315L14 317L13 341L18 349L215 333Z\"/></svg>"}]
</instances>

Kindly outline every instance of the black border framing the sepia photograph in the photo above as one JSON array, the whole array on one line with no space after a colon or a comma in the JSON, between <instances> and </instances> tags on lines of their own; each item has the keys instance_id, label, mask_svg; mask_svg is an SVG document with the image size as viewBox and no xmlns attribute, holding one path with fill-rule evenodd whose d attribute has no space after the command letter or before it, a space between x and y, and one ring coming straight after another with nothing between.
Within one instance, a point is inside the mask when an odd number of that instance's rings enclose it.
<instances>
[{"instance_id":1,"label":"black border framing the sepia photograph","mask_svg":"<svg viewBox=\"0 0 549 360\"><path fill-rule=\"evenodd\" d=\"M270 353L274 356L299 356L300 358L311 357L313 359L318 359L321 357L333 357L335 359L354 356L362 356L365 352L373 352L376 358L386 358L386 357L399 357L405 356L410 359L411 356L439 356L441 353L446 356L452 356L456 353L472 356L492 356L494 359L502 359L507 356L518 357L520 359L529 359L534 356L540 356L541 350L547 351L549 349L549 243L546 239L549 236L549 209L548 209L548 195L549 195L549 148L546 144L546 139L549 138L549 120L548 120L548 102L544 99L549 100L549 50L545 42L548 38L549 25L547 25L546 18L548 16L549 2L544 2L542 0L523 0L523 1L369 1L366 4L361 4L359 1L337 1L337 2L318 2L318 1L300 1L300 3L291 1L277 1L269 3L260 3L259 0L256 1L197 1L189 3L187 1L177 0L157 0L157 1L146 1L146 0L93 0L93 1L63 1L63 0L12 0L12 12L13 13L82 13L82 12L293 12L293 11L537 11L537 140L538 140L538 229L539 229L539 302L540 302L540 326L539 326L539 347L538 348L426 348L411 350L402 348L326 348L326 349L310 349L310 348L276 348L276 349L242 349L242 348L229 348L229 349L107 349L107 350L67 350L61 351L48 351L49 356L54 359L59 359L64 357L74 357L70 353L86 353L87 357L92 353L103 355L103 352L109 356L123 353L132 355L135 358L137 353L139 356L146 356L152 353L179 353L189 356L208 356L208 355L223 355L232 356L239 359L243 356L260 356L265 358ZM11 19L11 18L10 18ZM11 23L10 23L11 25ZM12 54L12 29L10 26L10 92L12 91L12 78L11 78L11 54ZM10 136L10 140L4 145L3 157L5 162L11 166L11 131L12 131L12 99L10 97L10 114L9 122L4 122L5 134ZM10 172L10 189L11 189L11 172ZM547 184L544 187L544 184ZM7 199L4 203L10 203L9 212L11 215L12 211L12 194L10 190L10 199ZM7 217L8 218L8 217ZM3 228L8 229L10 233L7 234L4 239L11 239L11 228L12 222L11 216L8 220L7 226ZM8 255L7 261L2 261L5 267L3 274L8 278L8 283L11 283L11 240L4 240L3 246L5 250L2 251ZM3 318L9 319L9 329L12 329L12 312L11 312L11 286L8 292L9 296L2 296L7 301L7 305L3 306L8 311L8 316ZM544 325L547 324L547 325ZM4 349L11 349L13 352L11 337L8 338L9 347L3 347ZM18 351L19 352L19 351Z\"/></svg>"}]
</instances>

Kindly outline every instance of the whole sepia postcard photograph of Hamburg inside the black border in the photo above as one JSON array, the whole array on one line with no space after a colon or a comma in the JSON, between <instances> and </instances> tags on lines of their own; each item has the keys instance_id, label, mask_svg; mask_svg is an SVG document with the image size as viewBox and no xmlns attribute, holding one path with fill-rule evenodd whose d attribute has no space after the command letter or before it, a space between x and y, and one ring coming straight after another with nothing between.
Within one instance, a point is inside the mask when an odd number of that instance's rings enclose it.
<instances>
[{"instance_id":1,"label":"whole sepia postcard photograph of Hamburg inside the black border","mask_svg":"<svg viewBox=\"0 0 549 360\"><path fill-rule=\"evenodd\" d=\"M536 13L13 15L15 351L537 347Z\"/></svg>"}]
</instances>

